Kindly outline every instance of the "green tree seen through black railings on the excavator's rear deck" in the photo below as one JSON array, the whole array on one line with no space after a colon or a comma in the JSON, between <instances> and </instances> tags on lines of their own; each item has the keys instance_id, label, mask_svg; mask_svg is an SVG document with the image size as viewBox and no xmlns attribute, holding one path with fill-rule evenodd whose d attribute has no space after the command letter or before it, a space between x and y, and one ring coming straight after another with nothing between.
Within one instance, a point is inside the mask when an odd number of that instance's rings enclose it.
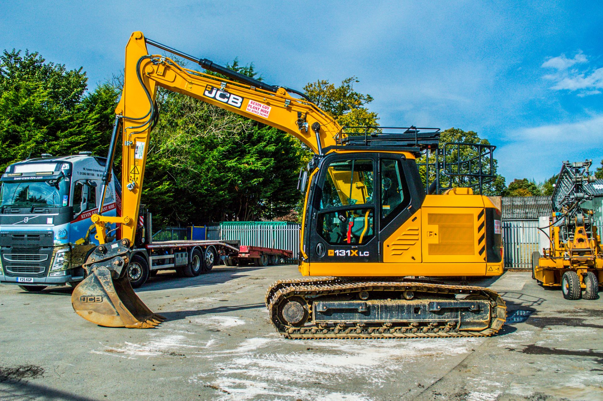
<instances>
[{"instance_id":1,"label":"green tree seen through black railings on the excavator's rear deck","mask_svg":"<svg viewBox=\"0 0 603 401\"><path fill-rule=\"evenodd\" d=\"M444 144L450 144L452 142L463 142L468 144L482 144L482 145L490 145L487 139L482 139L478 136L475 131L463 131L459 128L449 128L445 131L442 131L440 134L440 147L444 147ZM459 148L459 153L461 160L469 160L478 156L478 150L475 147L470 146L461 146ZM435 153L435 152L434 152ZM457 160L457 147L447 147L446 148L446 162L453 163ZM419 174L423 179L423 183L426 181L426 166L425 166L425 154L423 154L419 159L417 159L417 164L419 165ZM429 157L429 163L435 163L435 155L431 154ZM451 165L451 164L449 164ZM479 170L479 165L476 163L472 163L471 169L469 169L469 164L464 163L461 165L460 171L457 171L454 168L453 172L465 172L465 173L476 173ZM497 174L498 162L496 159L493 160L493 174L496 175L494 180L490 183L482 185L482 195L488 196L499 196L505 189L505 177L500 174ZM490 169L490 157L482 157L482 171L484 173L489 173ZM440 182L441 186L448 186L450 178L447 177L446 174L443 174L444 171L440 170ZM435 169L434 166L430 166L429 170L429 183L434 182L435 180ZM452 178L452 186L473 186L473 191L477 194L479 192L479 186L476 185L478 181L475 178L470 178L469 176L463 177L454 177Z\"/></svg>"}]
</instances>

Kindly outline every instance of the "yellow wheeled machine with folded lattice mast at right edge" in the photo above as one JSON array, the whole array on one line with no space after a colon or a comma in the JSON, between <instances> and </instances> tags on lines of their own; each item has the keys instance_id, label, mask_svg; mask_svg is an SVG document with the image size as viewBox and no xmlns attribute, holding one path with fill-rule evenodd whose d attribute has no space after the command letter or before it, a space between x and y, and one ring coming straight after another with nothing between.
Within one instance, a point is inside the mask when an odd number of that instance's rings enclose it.
<instances>
[{"instance_id":1,"label":"yellow wheeled machine with folded lattice mast at right edge","mask_svg":"<svg viewBox=\"0 0 603 401\"><path fill-rule=\"evenodd\" d=\"M564 162L552 195L549 248L532 253L532 279L543 286L561 286L570 300L597 298L603 281L601 238L593 221L592 195L584 186L592 160ZM584 290L584 292L582 292Z\"/></svg>"}]
</instances>

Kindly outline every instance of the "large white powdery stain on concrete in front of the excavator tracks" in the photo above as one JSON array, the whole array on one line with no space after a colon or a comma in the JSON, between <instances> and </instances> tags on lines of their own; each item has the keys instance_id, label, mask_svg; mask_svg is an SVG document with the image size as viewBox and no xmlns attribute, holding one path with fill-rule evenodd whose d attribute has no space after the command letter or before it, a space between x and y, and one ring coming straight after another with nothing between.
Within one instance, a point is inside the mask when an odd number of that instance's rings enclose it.
<instances>
[{"instance_id":1,"label":"large white powdery stain on concrete in front of the excavator tracks","mask_svg":"<svg viewBox=\"0 0 603 401\"><path fill-rule=\"evenodd\" d=\"M413 374L414 362L443 360L450 355L469 353L484 339L323 340L291 341L278 335L245 339L235 349L215 352L210 358L227 358L213 372L191 378L221 388L230 394L223 399L370 399L371 393L392 377ZM293 346L293 347L292 347ZM251 379L251 380L248 380ZM348 381L365 383L358 393L317 393L312 385L341 385ZM307 388L311 390L307 390ZM330 398L329 398L330 397Z\"/></svg>"}]
</instances>

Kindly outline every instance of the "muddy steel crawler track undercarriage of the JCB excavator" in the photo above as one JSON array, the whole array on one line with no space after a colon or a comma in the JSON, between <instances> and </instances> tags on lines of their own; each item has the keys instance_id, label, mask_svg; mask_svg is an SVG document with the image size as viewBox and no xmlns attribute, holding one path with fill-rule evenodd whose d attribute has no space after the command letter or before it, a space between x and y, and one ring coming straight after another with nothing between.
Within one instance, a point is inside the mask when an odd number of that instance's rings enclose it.
<instances>
[{"instance_id":1,"label":"muddy steel crawler track undercarriage of the JCB excavator","mask_svg":"<svg viewBox=\"0 0 603 401\"><path fill-rule=\"evenodd\" d=\"M487 288L403 280L279 280L266 305L291 339L490 336L507 317L505 302Z\"/></svg>"}]
</instances>

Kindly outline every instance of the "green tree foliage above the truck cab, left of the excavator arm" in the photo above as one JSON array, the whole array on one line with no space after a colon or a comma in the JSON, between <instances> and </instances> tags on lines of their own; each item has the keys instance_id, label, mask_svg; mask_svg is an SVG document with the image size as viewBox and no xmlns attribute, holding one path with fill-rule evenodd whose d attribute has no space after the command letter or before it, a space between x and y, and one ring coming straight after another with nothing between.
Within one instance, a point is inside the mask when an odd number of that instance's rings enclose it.
<instances>
[{"instance_id":1,"label":"green tree foliage above the truck cab, left of the excavator arm","mask_svg":"<svg viewBox=\"0 0 603 401\"><path fill-rule=\"evenodd\" d=\"M0 168L38 157L108 147L118 93L109 84L86 94L86 73L45 62L37 52L0 56Z\"/></svg>"}]
</instances>

